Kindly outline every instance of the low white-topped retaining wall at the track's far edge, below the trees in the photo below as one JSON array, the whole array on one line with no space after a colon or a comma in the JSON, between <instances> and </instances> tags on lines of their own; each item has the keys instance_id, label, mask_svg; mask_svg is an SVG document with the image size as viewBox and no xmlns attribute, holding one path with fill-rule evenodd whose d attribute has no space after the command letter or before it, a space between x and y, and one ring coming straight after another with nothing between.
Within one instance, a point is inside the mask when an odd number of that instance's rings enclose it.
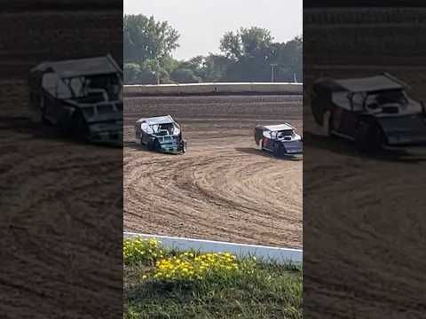
<instances>
[{"instance_id":1,"label":"low white-topped retaining wall at the track's far edge, below the trees","mask_svg":"<svg viewBox=\"0 0 426 319\"><path fill-rule=\"evenodd\" d=\"M124 85L124 95L208 95L208 94L292 94L302 95L302 83L286 82L232 82L232 83L188 83L159 85Z\"/></svg>"}]
</instances>

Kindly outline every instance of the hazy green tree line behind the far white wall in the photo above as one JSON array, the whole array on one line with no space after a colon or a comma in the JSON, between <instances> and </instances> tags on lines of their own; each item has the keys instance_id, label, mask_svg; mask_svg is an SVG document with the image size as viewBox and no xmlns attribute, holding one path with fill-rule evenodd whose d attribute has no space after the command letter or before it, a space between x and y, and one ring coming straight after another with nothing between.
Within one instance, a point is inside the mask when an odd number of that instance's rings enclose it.
<instances>
[{"instance_id":1,"label":"hazy green tree line behind the far white wall","mask_svg":"<svg viewBox=\"0 0 426 319\"><path fill-rule=\"evenodd\" d=\"M142 14L125 15L125 84L303 82L302 36L277 43L268 29L241 27L222 36L219 54L184 61L171 55L179 47L179 37L167 21Z\"/></svg>"}]
</instances>

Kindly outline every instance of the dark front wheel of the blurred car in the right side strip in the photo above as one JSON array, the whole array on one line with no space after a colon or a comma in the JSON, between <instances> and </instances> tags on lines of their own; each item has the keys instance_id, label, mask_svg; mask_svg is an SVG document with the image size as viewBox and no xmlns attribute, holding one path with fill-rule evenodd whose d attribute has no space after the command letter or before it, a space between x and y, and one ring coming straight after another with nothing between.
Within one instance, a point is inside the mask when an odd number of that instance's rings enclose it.
<instances>
[{"instance_id":1,"label":"dark front wheel of the blurred car in the right side strip","mask_svg":"<svg viewBox=\"0 0 426 319\"><path fill-rule=\"evenodd\" d=\"M375 121L361 121L355 135L355 144L359 152L372 153L380 150L382 130Z\"/></svg>"}]
</instances>

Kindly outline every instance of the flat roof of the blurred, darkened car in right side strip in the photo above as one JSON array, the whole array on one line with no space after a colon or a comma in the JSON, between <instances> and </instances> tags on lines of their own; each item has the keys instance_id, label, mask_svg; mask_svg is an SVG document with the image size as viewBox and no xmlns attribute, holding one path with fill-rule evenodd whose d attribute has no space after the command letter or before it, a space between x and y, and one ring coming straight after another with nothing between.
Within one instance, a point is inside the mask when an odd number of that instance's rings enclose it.
<instances>
[{"instance_id":1,"label":"flat roof of the blurred, darkened car in right side strip","mask_svg":"<svg viewBox=\"0 0 426 319\"><path fill-rule=\"evenodd\" d=\"M364 78L335 80L335 83L351 92L372 92L383 89L404 89L400 82L386 75L376 75Z\"/></svg>"}]
</instances>

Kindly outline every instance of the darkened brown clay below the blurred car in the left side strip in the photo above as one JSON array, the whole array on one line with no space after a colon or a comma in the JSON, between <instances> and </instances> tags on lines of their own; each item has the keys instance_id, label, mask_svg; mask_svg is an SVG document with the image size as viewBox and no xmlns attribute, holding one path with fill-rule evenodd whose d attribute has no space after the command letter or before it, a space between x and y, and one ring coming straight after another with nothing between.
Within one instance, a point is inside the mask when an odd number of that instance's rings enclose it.
<instances>
[{"instance_id":1,"label":"darkened brown clay below the blurred car in the left side strip","mask_svg":"<svg viewBox=\"0 0 426 319\"><path fill-rule=\"evenodd\" d=\"M0 83L0 316L115 318L122 149L29 121L26 83Z\"/></svg>"}]
</instances>

